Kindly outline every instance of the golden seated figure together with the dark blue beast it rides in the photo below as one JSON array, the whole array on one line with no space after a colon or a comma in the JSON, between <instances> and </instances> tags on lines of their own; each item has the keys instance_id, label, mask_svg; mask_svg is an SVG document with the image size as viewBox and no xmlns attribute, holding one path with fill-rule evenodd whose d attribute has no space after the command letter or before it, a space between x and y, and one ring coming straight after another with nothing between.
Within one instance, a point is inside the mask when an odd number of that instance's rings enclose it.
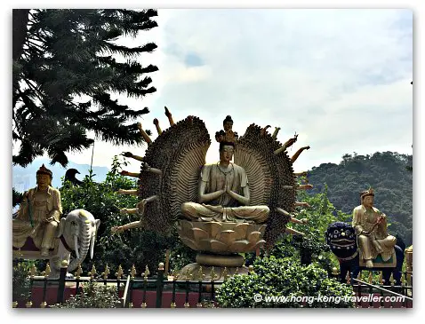
<instances>
[{"instance_id":1,"label":"golden seated figure together with the dark blue beast it rides","mask_svg":"<svg viewBox=\"0 0 425 324\"><path fill-rule=\"evenodd\" d=\"M388 284L391 273L400 284L405 259L405 243L389 235L387 216L373 207L373 188L360 193L361 204L353 209L352 226L336 222L326 231L326 242L340 260L341 279L347 272L357 274L362 269L381 270Z\"/></svg>"}]
</instances>

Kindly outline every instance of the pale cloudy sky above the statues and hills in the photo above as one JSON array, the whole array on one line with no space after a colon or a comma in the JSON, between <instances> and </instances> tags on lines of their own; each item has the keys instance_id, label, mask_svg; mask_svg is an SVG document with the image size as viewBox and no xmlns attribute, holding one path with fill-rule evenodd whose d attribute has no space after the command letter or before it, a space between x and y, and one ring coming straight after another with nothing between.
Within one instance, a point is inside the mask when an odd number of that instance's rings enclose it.
<instances>
[{"instance_id":1,"label":"pale cloudy sky above the statues and hills","mask_svg":"<svg viewBox=\"0 0 425 324\"><path fill-rule=\"evenodd\" d=\"M310 146L294 170L341 162L343 154L413 154L413 12L388 9L160 9L158 27L130 46L158 45L140 62L154 64L157 91L146 99L116 97L148 107L145 129L169 127L188 115L204 120L212 138L207 162L218 160L213 135L226 115L239 135L255 122L280 127L288 151ZM115 154L143 155L146 146L96 142L93 165ZM69 154L90 164L92 148ZM128 168L137 170L139 163Z\"/></svg>"}]
</instances>

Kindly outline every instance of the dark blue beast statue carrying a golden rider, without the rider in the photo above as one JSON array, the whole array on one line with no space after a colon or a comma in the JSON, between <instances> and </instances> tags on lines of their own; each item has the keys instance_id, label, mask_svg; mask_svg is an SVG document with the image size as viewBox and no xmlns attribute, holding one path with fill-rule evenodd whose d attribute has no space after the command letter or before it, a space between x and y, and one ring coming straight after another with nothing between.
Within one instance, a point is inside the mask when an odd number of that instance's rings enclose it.
<instances>
[{"instance_id":1,"label":"dark blue beast statue carrying a golden rider, without the rider","mask_svg":"<svg viewBox=\"0 0 425 324\"><path fill-rule=\"evenodd\" d=\"M343 222L335 222L328 226L325 232L326 243L329 245L333 254L340 261L340 280L346 282L347 273L353 273L353 277L357 278L361 270L381 271L382 279L385 284L389 284L391 273L397 285L401 285L402 267L405 261L405 243L396 235L397 243L394 247L396 260L388 261L389 266L386 267L378 256L373 263L380 263L380 267L366 268L359 265L359 249L357 246L357 236L354 228ZM382 265L383 264L383 265Z\"/></svg>"}]
</instances>

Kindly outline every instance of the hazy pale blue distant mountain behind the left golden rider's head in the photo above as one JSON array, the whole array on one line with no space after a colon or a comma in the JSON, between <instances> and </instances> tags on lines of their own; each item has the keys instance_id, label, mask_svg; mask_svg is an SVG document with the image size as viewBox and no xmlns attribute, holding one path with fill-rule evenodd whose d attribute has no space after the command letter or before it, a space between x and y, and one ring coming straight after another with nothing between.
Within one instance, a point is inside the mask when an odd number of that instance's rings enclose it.
<instances>
[{"instance_id":1,"label":"hazy pale blue distant mountain behind the left golden rider's head","mask_svg":"<svg viewBox=\"0 0 425 324\"><path fill-rule=\"evenodd\" d=\"M42 166L44 166L52 170L53 179L52 186L55 188L59 188L62 186L62 178L65 177L65 172L68 169L76 169L80 172L80 174L76 175L76 178L79 180L83 180L85 176L89 175L90 165L89 164L77 164L74 162L69 162L67 168L62 168L59 163L55 165L49 164L49 159L38 158L34 162L28 165L26 168L22 168L20 166L12 167L12 186L19 193L23 193L27 191L29 188L36 186L36 171ZM109 171L107 167L92 167L93 180L96 182L102 182L105 180L106 175Z\"/></svg>"}]
</instances>

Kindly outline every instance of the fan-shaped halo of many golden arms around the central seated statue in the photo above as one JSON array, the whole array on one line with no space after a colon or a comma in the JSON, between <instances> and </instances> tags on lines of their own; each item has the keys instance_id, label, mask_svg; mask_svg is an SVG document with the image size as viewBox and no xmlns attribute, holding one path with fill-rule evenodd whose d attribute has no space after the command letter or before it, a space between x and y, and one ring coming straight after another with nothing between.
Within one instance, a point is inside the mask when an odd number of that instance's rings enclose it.
<instances>
[{"instance_id":1,"label":"fan-shaped halo of many golden arms around the central seated statue","mask_svg":"<svg viewBox=\"0 0 425 324\"><path fill-rule=\"evenodd\" d=\"M173 122L172 114L166 107L165 115L170 127L161 130L155 119L158 137L154 141L139 123L141 135L148 143L145 156L124 153L124 156L141 162L140 173L122 173L139 178L138 190L119 191L121 194L139 196L140 202L136 209L123 211L137 214L140 221L117 226L113 231L142 227L158 233L170 233L177 220L187 219L182 214L182 204L198 202L199 178L211 145L210 135L204 122L196 116L189 115L180 122ZM296 177L306 175L306 172L293 172L293 162L309 146L301 147L289 157L286 149L296 142L297 135L281 144L277 140L280 128L277 127L273 135L270 135L267 131L269 127L262 128L253 123L240 138L232 130L216 133L216 139L220 134L226 136L229 131L236 135L234 162L245 170L250 192L249 206L269 207L269 217L264 224L267 225L264 240L268 249L281 233L302 234L286 225L290 221L302 224L293 217L293 213L296 206L308 204L297 202L296 192L312 187L309 184L296 183Z\"/></svg>"}]
</instances>

